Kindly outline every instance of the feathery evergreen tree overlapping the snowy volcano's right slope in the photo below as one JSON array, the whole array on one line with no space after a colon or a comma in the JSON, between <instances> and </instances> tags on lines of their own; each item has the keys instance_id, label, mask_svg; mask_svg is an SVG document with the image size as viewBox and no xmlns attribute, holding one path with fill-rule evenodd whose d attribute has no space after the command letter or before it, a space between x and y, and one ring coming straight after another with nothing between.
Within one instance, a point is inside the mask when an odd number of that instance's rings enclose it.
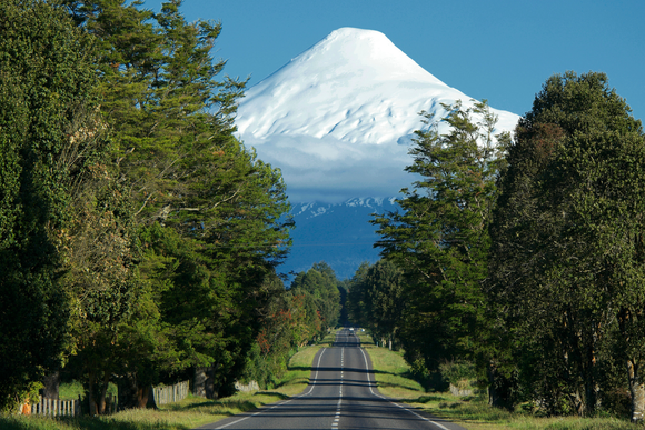
<instances>
[{"instance_id":1,"label":"feathery evergreen tree overlapping the snowy volcano's right slope","mask_svg":"<svg viewBox=\"0 0 645 430\"><path fill-rule=\"evenodd\" d=\"M487 274L490 222L508 136L494 136L496 118L487 104L445 106L448 132L416 132L406 168L421 177L401 190L401 212L377 214L381 256L405 274L400 340L408 362L428 370L446 360L474 358L487 328L480 281ZM495 144L497 140L497 146Z\"/></svg>"}]
</instances>

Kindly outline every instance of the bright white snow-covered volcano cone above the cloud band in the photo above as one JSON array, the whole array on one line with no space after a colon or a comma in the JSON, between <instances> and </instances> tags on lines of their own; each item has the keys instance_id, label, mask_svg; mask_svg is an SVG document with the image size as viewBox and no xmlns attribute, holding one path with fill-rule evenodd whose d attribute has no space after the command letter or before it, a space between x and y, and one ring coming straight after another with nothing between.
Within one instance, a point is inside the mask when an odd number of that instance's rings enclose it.
<instances>
[{"instance_id":1,"label":"bright white snow-covered volcano cone above the cloud band","mask_svg":"<svg viewBox=\"0 0 645 430\"><path fill-rule=\"evenodd\" d=\"M469 100L385 34L341 28L249 89L237 126L251 144L275 134L396 143L420 127L430 100Z\"/></svg>"}]
</instances>

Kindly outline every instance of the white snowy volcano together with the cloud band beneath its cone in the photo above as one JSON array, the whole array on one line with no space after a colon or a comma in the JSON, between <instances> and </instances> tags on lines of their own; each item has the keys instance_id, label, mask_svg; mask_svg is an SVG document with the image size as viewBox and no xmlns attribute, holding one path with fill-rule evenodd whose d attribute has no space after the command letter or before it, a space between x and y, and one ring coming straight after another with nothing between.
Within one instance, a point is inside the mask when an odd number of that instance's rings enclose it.
<instances>
[{"instance_id":1,"label":"white snowy volcano together with the cloud band beneath its cone","mask_svg":"<svg viewBox=\"0 0 645 430\"><path fill-rule=\"evenodd\" d=\"M395 196L418 112L470 98L446 86L385 34L341 28L254 86L241 100L238 137L282 170L291 201ZM496 111L499 131L516 114Z\"/></svg>"}]
</instances>

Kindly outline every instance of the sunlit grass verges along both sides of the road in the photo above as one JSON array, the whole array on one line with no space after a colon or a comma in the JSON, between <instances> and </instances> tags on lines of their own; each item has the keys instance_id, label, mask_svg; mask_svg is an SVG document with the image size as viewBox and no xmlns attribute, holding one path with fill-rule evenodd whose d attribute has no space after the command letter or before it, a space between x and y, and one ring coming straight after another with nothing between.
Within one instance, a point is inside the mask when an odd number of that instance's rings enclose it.
<instances>
[{"instance_id":1,"label":"sunlit grass verges along both sides of the road","mask_svg":"<svg viewBox=\"0 0 645 430\"><path fill-rule=\"evenodd\" d=\"M426 393L423 387L406 376L408 366L399 352L377 348L365 334L361 342L369 352L379 391L400 399L414 408L435 417L446 418L469 430L622 430L643 429L614 418L580 419L576 417L539 418L527 412L507 412L490 408L477 398L457 398L449 393ZM130 410L109 417L81 417L77 419L48 419L39 417L0 417L2 430L187 430L209 422L252 410L262 404L282 400L301 392L307 387L316 352L330 346L333 334L319 344L307 347L295 354L278 386L270 391L238 393L207 400L190 397L159 410ZM78 387L71 388L76 396ZM77 391L73 391L73 390Z\"/></svg>"}]
</instances>

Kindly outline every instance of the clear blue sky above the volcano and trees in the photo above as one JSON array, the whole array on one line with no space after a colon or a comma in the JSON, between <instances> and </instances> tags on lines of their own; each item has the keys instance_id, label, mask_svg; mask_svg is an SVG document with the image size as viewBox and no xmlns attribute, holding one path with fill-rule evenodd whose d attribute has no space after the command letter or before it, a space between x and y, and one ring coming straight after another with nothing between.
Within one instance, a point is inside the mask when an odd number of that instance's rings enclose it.
<instances>
[{"instance_id":1,"label":"clear blue sky above the volcano and trees","mask_svg":"<svg viewBox=\"0 0 645 430\"><path fill-rule=\"evenodd\" d=\"M524 114L553 73L602 71L645 120L644 0L185 0L181 10L189 21L221 21L214 54L251 86L333 30L356 27L385 33L496 109Z\"/></svg>"}]
</instances>

